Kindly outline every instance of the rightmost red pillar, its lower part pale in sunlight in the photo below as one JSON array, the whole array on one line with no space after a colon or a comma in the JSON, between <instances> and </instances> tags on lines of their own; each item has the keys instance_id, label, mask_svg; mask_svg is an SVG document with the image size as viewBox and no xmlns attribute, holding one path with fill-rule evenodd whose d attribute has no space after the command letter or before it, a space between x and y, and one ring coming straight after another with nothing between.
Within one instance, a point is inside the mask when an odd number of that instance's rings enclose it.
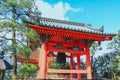
<instances>
[{"instance_id":1,"label":"rightmost red pillar, its lower part pale in sunlight","mask_svg":"<svg viewBox=\"0 0 120 80\"><path fill-rule=\"evenodd\" d=\"M89 47L86 48L87 79L92 79Z\"/></svg>"}]
</instances>

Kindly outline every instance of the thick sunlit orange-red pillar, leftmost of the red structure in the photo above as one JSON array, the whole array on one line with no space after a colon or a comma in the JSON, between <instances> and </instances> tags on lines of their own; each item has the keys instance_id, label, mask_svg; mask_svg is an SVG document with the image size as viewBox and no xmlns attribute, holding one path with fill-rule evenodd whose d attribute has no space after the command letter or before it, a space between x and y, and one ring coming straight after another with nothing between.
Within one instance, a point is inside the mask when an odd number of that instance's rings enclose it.
<instances>
[{"instance_id":1,"label":"thick sunlit orange-red pillar, leftmost of the red structure","mask_svg":"<svg viewBox=\"0 0 120 80\"><path fill-rule=\"evenodd\" d=\"M46 43L41 46L40 54L39 54L39 70L37 73L38 79L46 79L46 72L47 72L47 50L46 50Z\"/></svg>"}]
</instances>

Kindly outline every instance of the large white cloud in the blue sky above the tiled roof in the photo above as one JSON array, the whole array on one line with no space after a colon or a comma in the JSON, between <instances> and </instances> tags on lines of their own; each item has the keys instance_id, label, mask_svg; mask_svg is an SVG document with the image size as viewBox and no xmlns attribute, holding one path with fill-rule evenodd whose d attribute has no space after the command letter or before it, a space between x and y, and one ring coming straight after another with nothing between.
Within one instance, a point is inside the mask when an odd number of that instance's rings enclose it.
<instances>
[{"instance_id":1,"label":"large white cloud in the blue sky above the tiled roof","mask_svg":"<svg viewBox=\"0 0 120 80\"><path fill-rule=\"evenodd\" d=\"M68 17L65 17L68 11L79 12L83 9L73 8L68 3L58 2L54 5L51 5L43 0L36 0L36 5L38 9L42 12L42 17L68 20Z\"/></svg>"}]
</instances>

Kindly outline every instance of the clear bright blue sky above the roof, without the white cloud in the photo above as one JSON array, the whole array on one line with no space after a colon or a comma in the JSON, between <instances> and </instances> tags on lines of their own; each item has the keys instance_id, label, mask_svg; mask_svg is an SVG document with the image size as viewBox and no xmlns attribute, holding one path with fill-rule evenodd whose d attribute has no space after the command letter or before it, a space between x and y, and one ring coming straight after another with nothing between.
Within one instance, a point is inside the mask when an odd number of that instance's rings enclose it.
<instances>
[{"instance_id":1,"label":"clear bright blue sky above the roof, without the white cloud","mask_svg":"<svg viewBox=\"0 0 120 80\"><path fill-rule=\"evenodd\" d=\"M104 32L106 33L117 33L117 31L120 30L120 0L37 1L43 1L44 3L49 4L49 6L51 6L52 8L60 2L63 4L63 9L66 7L66 4L68 4L69 7L74 9L69 9L65 12L64 17L67 18L68 21L92 24L92 27L95 28L100 28L102 25L104 25ZM58 10L53 11L52 13L54 14L55 12L59 12L59 8Z\"/></svg>"}]
</instances>

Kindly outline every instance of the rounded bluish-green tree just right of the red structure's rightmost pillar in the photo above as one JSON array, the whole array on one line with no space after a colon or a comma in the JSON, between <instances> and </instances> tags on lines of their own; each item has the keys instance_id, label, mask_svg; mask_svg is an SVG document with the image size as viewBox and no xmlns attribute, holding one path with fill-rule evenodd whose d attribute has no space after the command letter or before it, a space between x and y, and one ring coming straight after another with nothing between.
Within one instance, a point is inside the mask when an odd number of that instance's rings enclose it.
<instances>
[{"instance_id":1,"label":"rounded bluish-green tree just right of the red structure's rightmost pillar","mask_svg":"<svg viewBox=\"0 0 120 80\"><path fill-rule=\"evenodd\" d=\"M116 64L118 64L118 61L116 61L117 55L118 53L111 52L94 58L95 60L93 64L95 64L95 68L97 70L96 74L98 74L98 77L113 79L113 72L117 72L119 67L116 66ZM115 66L113 66L113 64L115 64Z\"/></svg>"}]
</instances>

